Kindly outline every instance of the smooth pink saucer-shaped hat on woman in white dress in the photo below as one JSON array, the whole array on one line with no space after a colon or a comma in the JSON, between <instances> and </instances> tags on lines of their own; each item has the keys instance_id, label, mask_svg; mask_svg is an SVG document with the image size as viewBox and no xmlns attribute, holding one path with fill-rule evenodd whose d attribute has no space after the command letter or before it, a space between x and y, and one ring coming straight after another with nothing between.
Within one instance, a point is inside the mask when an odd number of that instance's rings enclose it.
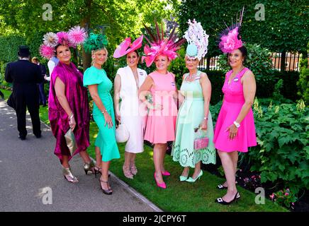
<instances>
[{"instance_id":1,"label":"smooth pink saucer-shaped hat on woman in white dress","mask_svg":"<svg viewBox=\"0 0 309 226\"><path fill-rule=\"evenodd\" d=\"M121 42L115 52L113 53L114 58L120 58L125 56L126 54L135 51L136 49L140 49L142 47L142 39L144 35L140 35L137 39L131 44L131 38L127 37L123 42Z\"/></svg>"}]
</instances>

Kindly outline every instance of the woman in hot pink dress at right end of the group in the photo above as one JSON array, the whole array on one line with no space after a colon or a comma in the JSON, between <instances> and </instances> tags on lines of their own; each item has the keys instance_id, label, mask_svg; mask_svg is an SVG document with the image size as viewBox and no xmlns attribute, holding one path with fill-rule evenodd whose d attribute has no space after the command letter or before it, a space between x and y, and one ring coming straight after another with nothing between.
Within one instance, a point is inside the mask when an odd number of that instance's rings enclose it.
<instances>
[{"instance_id":1,"label":"woman in hot pink dress at right end of the group","mask_svg":"<svg viewBox=\"0 0 309 226\"><path fill-rule=\"evenodd\" d=\"M232 68L225 75L223 105L213 138L226 178L218 189L227 189L227 194L216 199L223 205L240 198L235 185L238 152L247 153L248 147L257 145L252 112L256 83L252 71L244 66L247 49L240 40L240 24L225 30L219 44L220 49L227 53L227 61Z\"/></svg>"}]
</instances>

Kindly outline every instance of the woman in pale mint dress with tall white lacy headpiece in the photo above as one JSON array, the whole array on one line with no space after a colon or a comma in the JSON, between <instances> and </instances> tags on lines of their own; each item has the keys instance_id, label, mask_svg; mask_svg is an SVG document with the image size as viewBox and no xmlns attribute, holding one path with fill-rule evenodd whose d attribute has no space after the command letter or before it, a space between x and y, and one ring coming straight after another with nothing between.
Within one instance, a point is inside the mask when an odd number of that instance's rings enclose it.
<instances>
[{"instance_id":1,"label":"woman in pale mint dress with tall white lacy headpiece","mask_svg":"<svg viewBox=\"0 0 309 226\"><path fill-rule=\"evenodd\" d=\"M195 20L191 25L201 29L201 25ZM190 29L186 34L188 32ZM201 33L203 34L203 32ZM190 38L192 36L189 35ZM186 39L189 38L186 37ZM203 175L201 162L215 164L213 120L209 111L211 84L206 73L198 71L197 68L199 60L207 52L208 35L205 33L198 40L200 46L196 44L198 42L193 42L194 44L189 44L186 49L185 61L189 73L184 74L179 92L184 96L184 102L178 112L176 139L172 148L173 160L184 167L184 171L179 177L181 182L195 182L196 179L199 179ZM196 131L196 129L198 130ZM208 137L208 147L195 150L194 139L205 136ZM189 167L194 168L192 177L189 177Z\"/></svg>"}]
</instances>

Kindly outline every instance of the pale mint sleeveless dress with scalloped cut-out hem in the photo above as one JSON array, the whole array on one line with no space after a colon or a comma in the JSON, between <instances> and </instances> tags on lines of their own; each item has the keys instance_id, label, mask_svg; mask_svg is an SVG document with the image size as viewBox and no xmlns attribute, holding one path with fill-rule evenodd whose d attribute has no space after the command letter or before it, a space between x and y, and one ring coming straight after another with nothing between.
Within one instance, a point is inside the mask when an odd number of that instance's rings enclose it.
<instances>
[{"instance_id":1,"label":"pale mint sleeveless dress with scalloped cut-out hem","mask_svg":"<svg viewBox=\"0 0 309 226\"><path fill-rule=\"evenodd\" d=\"M204 98L199 81L201 71L198 71L196 80L186 81L189 73L186 73L181 84L180 92L185 100L182 103L176 121L176 138L172 147L172 156L175 162L182 167L194 168L199 161L204 164L215 164L215 145L213 143L213 119L208 113L207 131L194 131L204 118ZM194 150L194 139L207 136L208 147Z\"/></svg>"}]
</instances>

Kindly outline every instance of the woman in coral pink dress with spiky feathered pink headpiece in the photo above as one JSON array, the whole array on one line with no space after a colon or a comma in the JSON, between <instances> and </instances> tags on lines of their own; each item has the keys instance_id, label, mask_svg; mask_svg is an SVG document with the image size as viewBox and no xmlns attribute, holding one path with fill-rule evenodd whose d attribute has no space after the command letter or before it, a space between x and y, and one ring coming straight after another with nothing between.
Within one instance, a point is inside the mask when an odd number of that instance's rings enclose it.
<instances>
[{"instance_id":1,"label":"woman in coral pink dress with spiky feathered pink headpiece","mask_svg":"<svg viewBox=\"0 0 309 226\"><path fill-rule=\"evenodd\" d=\"M149 31L148 28L146 30ZM159 31L158 26L157 31ZM142 57L142 60L145 59L147 67L154 61L157 70L145 79L139 89L139 98L149 109L144 139L154 143L154 180L157 186L166 189L162 175L169 176L170 174L164 168L164 155L167 150L167 141L175 140L178 95L175 76L167 71L167 67L170 61L176 58L176 50L185 40L174 42L176 39L174 32L170 40L164 40L161 34L164 34L163 30L162 33L156 35L158 37L156 40L150 42L151 47L146 45L144 48L146 56ZM154 35L150 36L154 37ZM149 94L152 95L152 103L146 100Z\"/></svg>"}]
</instances>

